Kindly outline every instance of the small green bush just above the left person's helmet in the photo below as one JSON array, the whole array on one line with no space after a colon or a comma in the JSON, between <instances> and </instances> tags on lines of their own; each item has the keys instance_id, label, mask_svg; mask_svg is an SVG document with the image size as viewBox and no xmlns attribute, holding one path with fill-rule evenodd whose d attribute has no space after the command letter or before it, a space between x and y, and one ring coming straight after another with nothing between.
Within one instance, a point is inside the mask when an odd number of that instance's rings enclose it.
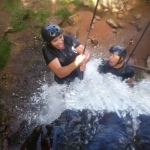
<instances>
[{"instance_id":1,"label":"small green bush just above the left person's helmet","mask_svg":"<svg viewBox=\"0 0 150 150\"><path fill-rule=\"evenodd\" d=\"M62 19L68 18L70 15L72 15L71 12L69 12L67 7L62 7L61 9L57 10L54 14L55 16L59 16Z\"/></svg>"}]
</instances>

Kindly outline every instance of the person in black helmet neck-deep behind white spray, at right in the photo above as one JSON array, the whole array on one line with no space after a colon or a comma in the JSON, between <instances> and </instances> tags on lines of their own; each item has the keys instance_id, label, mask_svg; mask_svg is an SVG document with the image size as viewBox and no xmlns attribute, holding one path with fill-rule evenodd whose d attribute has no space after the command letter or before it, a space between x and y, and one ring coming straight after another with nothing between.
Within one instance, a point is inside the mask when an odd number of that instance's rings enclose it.
<instances>
[{"instance_id":1,"label":"person in black helmet neck-deep behind white spray, at right","mask_svg":"<svg viewBox=\"0 0 150 150\"><path fill-rule=\"evenodd\" d=\"M127 55L126 49L121 46L113 46L109 52L109 60L104 60L102 64L98 66L98 72L112 73L120 77L122 81L126 80L127 83L132 84L135 80L135 71L124 61Z\"/></svg>"}]
</instances>

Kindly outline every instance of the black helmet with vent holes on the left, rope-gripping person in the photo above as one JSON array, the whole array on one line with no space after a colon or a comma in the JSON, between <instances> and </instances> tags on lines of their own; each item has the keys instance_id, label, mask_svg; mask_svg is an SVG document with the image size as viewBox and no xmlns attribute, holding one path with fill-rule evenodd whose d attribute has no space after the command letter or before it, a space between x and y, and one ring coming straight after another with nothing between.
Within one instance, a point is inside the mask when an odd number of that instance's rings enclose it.
<instances>
[{"instance_id":1,"label":"black helmet with vent holes on the left, rope-gripping person","mask_svg":"<svg viewBox=\"0 0 150 150\"><path fill-rule=\"evenodd\" d=\"M62 34L62 30L59 26L55 24L46 24L41 29L41 34L46 42L52 41L55 37Z\"/></svg>"}]
</instances>

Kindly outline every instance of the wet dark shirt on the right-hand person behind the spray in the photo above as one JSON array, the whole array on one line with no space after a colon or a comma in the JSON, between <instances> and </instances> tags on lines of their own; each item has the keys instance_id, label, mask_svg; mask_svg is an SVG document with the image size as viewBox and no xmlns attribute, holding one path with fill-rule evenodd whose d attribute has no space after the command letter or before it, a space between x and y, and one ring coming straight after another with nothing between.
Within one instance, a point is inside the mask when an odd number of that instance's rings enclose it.
<instances>
[{"instance_id":1,"label":"wet dark shirt on the right-hand person behind the spray","mask_svg":"<svg viewBox=\"0 0 150 150\"><path fill-rule=\"evenodd\" d=\"M102 64L98 66L98 72L112 73L113 75L121 77L122 81L128 78L132 78L135 75L134 69L128 64L124 63L124 65L121 68L114 68L110 66L108 60L104 60Z\"/></svg>"}]
</instances>

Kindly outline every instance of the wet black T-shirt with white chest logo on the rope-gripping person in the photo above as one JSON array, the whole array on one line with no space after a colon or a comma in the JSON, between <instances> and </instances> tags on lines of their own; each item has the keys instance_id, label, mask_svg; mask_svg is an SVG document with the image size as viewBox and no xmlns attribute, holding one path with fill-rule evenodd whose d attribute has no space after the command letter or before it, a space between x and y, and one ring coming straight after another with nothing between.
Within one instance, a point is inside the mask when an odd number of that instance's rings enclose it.
<instances>
[{"instance_id":1,"label":"wet black T-shirt with white chest logo on the rope-gripping person","mask_svg":"<svg viewBox=\"0 0 150 150\"><path fill-rule=\"evenodd\" d=\"M59 62L61 66L67 66L74 62L75 58L79 55L79 53L76 51L76 47L80 45L80 43L73 38L70 35L64 35L64 45L65 49L58 50L51 46L50 44L46 44L43 47L43 55L46 61L46 64L48 65L51 61L53 61L55 58L59 59ZM73 81L75 77L79 77L79 68L76 68L73 70L68 76L64 78L59 78L58 76L54 76L54 79L57 83L63 84L63 83L69 83Z\"/></svg>"}]
</instances>

